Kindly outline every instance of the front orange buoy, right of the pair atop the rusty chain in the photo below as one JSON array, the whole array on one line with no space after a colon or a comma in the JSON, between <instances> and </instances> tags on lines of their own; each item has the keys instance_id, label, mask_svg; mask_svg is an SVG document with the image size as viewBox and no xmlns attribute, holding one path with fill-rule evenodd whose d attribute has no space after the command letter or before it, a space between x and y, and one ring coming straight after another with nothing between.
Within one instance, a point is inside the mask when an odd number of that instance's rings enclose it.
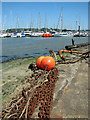
<instances>
[{"instance_id":1,"label":"front orange buoy, right of the pair atop the rusty chain","mask_svg":"<svg viewBox=\"0 0 90 120\"><path fill-rule=\"evenodd\" d=\"M50 56L44 57L41 61L42 69L45 69L47 67L46 70L51 70L52 68L54 68L54 66L55 66L55 60Z\"/></svg>"}]
</instances>

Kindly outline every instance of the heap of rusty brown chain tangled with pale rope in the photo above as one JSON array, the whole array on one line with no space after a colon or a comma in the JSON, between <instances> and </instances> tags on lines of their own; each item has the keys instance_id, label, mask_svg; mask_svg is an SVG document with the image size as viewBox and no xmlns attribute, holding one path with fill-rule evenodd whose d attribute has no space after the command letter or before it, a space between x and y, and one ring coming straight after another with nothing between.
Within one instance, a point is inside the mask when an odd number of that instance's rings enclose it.
<instances>
[{"instance_id":1,"label":"heap of rusty brown chain tangled with pale rope","mask_svg":"<svg viewBox=\"0 0 90 120\"><path fill-rule=\"evenodd\" d=\"M33 67L35 68L35 66ZM58 70L54 68L50 71L43 71L43 73L32 74L31 79L26 79L26 82L31 83L32 77L34 77L37 85L23 89L20 95L12 98L9 107L2 111L2 118L30 119L39 104L38 118L50 118Z\"/></svg>"}]
</instances>

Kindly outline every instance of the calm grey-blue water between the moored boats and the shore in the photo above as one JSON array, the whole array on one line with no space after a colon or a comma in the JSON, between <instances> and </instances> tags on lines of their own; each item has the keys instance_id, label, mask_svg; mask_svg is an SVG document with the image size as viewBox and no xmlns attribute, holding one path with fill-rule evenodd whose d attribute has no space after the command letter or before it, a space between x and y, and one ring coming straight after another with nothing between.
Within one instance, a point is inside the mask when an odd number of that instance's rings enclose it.
<instances>
[{"instance_id":1,"label":"calm grey-blue water between the moored boats and the shore","mask_svg":"<svg viewBox=\"0 0 90 120\"><path fill-rule=\"evenodd\" d=\"M29 37L29 38L2 38L2 56L0 62L13 58L23 58L29 56L49 55L49 50L56 53L59 49L64 49L66 45L72 45L73 37ZM88 42L88 37L73 38L75 44Z\"/></svg>"}]
</instances>

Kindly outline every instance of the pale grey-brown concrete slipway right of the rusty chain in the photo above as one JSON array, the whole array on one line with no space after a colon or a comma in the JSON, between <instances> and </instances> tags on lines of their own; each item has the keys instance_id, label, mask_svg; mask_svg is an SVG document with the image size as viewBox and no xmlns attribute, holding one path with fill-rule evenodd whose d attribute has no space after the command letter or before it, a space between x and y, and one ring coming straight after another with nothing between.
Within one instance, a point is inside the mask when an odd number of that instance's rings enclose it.
<instances>
[{"instance_id":1,"label":"pale grey-brown concrete slipway right of the rusty chain","mask_svg":"<svg viewBox=\"0 0 90 120\"><path fill-rule=\"evenodd\" d=\"M88 60L58 65L51 118L88 118Z\"/></svg>"}]
</instances>

